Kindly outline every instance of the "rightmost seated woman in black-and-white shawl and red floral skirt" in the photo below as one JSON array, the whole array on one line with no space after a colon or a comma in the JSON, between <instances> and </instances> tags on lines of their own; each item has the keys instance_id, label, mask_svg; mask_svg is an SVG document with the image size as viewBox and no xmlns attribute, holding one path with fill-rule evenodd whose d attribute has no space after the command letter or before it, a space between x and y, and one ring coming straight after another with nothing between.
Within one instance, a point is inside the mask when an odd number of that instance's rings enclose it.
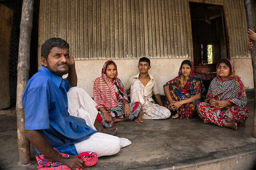
<instances>
[{"instance_id":1,"label":"rightmost seated woman in black-and-white shawl and red floral skirt","mask_svg":"<svg viewBox=\"0 0 256 170\"><path fill-rule=\"evenodd\" d=\"M228 59L217 65L217 77L210 84L206 102L197 105L197 112L204 124L214 123L237 130L249 115L244 84L235 74L234 66Z\"/></svg>"}]
</instances>

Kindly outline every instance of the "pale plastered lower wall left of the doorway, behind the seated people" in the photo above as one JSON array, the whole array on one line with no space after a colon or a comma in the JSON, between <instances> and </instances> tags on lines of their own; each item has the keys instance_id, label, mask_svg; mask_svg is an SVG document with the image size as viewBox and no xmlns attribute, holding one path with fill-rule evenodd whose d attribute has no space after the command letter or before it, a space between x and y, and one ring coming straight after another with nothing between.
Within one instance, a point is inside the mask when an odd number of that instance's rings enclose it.
<instances>
[{"instance_id":1,"label":"pale plastered lower wall left of the doorway, behind the seated people","mask_svg":"<svg viewBox=\"0 0 256 170\"><path fill-rule=\"evenodd\" d=\"M154 58L150 59L149 73L156 78L160 95L164 95L163 85L178 75L181 62L184 58ZM86 90L93 97L93 82L101 76L101 69L107 60L76 60L77 86ZM138 74L139 59L119 59L116 62L118 78L126 83L130 76Z\"/></svg>"}]
</instances>

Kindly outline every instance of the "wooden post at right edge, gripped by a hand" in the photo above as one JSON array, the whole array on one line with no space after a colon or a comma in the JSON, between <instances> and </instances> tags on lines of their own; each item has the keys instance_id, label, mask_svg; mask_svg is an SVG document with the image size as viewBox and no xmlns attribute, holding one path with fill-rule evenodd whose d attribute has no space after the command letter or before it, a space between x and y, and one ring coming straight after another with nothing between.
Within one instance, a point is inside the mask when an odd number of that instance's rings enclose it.
<instances>
[{"instance_id":1,"label":"wooden post at right edge, gripped by a hand","mask_svg":"<svg viewBox=\"0 0 256 170\"><path fill-rule=\"evenodd\" d=\"M254 24L252 19L252 3L250 0L244 0L244 6L246 11L246 18L247 18L247 27L251 30L254 30ZM253 132L252 137L256 138L256 42L251 40L253 46L251 49L251 56L252 56L252 69L253 69L253 79L254 79L254 122L253 122Z\"/></svg>"}]
</instances>

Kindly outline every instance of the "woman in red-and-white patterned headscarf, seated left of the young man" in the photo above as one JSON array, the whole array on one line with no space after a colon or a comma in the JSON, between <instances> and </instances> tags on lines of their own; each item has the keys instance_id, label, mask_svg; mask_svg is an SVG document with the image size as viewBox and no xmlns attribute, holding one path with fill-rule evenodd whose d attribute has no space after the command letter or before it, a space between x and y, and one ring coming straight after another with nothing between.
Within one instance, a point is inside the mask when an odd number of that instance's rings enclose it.
<instances>
[{"instance_id":1,"label":"woman in red-and-white patterned headscarf, seated left of the young man","mask_svg":"<svg viewBox=\"0 0 256 170\"><path fill-rule=\"evenodd\" d=\"M112 60L105 62L101 74L94 80L93 86L94 101L98 109L96 120L104 128L114 126L114 122L129 121L136 117L140 120L141 104L140 102L129 103L124 85L117 78L116 63ZM137 118L135 121L138 122Z\"/></svg>"}]
</instances>

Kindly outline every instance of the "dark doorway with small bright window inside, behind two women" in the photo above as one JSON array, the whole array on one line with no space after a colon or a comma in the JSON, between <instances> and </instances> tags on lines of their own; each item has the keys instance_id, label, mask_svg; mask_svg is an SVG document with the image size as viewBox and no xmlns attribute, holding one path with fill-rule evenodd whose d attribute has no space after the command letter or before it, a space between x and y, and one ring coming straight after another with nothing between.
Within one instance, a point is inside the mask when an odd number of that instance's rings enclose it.
<instances>
[{"instance_id":1,"label":"dark doorway with small bright window inside, behind two women","mask_svg":"<svg viewBox=\"0 0 256 170\"><path fill-rule=\"evenodd\" d=\"M216 77L216 64L229 58L228 34L224 6L189 2L194 72L200 76L208 89Z\"/></svg>"}]
</instances>

